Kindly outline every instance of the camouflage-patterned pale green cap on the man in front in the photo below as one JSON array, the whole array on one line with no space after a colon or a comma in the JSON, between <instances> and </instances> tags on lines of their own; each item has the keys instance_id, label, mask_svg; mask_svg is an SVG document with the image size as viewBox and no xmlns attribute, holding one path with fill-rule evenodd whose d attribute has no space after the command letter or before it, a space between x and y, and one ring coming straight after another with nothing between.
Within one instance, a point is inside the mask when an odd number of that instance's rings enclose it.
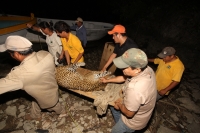
<instances>
[{"instance_id":1,"label":"camouflage-patterned pale green cap on the man in front","mask_svg":"<svg viewBox=\"0 0 200 133\"><path fill-rule=\"evenodd\" d=\"M128 49L124 54L120 57L117 57L113 60L113 63L117 68L143 68L147 65L147 55L138 48Z\"/></svg>"}]
</instances>

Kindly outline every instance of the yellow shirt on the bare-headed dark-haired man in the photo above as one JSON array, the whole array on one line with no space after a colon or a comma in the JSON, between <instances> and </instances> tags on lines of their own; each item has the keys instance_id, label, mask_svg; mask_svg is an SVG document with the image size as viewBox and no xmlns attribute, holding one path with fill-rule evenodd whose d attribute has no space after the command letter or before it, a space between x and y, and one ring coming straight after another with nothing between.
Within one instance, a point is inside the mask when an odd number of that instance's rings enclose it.
<instances>
[{"instance_id":1,"label":"yellow shirt on the bare-headed dark-haired man","mask_svg":"<svg viewBox=\"0 0 200 133\"><path fill-rule=\"evenodd\" d=\"M84 52L84 49L81 45L81 41L78 39L77 36L69 33L68 41L65 38L61 38L61 42L63 45L63 50L68 51L69 56L71 58L71 63L73 63L80 53ZM84 62L83 56L78 62Z\"/></svg>"}]
</instances>

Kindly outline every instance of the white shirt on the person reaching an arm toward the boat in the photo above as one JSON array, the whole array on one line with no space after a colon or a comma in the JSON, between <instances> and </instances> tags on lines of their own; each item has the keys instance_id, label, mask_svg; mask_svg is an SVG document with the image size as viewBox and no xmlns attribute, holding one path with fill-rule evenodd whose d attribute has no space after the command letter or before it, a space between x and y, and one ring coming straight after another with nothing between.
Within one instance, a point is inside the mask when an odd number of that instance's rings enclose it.
<instances>
[{"instance_id":1,"label":"white shirt on the person reaching an arm toward the boat","mask_svg":"<svg viewBox=\"0 0 200 133\"><path fill-rule=\"evenodd\" d=\"M62 42L60 40L60 37L57 36L55 32L51 36L46 35L42 30L40 29L41 33L46 36L46 43L48 45L48 51L51 53L51 55L54 57L54 62L56 65L59 63L57 62L57 56L56 52L61 54L62 52Z\"/></svg>"}]
</instances>

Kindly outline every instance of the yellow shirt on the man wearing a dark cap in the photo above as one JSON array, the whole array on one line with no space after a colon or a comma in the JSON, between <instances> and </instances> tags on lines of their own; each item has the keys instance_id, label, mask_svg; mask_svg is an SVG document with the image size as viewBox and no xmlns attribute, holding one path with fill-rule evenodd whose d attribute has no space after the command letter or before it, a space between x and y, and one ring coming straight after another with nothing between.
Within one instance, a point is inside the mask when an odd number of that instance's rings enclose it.
<instances>
[{"instance_id":1,"label":"yellow shirt on the man wearing a dark cap","mask_svg":"<svg viewBox=\"0 0 200 133\"><path fill-rule=\"evenodd\" d=\"M156 70L156 84L158 91L165 89L172 81L180 82L185 68L178 57L176 60L169 63L165 63L162 59L156 58L154 64L158 64ZM169 91L165 95L168 94Z\"/></svg>"}]
</instances>

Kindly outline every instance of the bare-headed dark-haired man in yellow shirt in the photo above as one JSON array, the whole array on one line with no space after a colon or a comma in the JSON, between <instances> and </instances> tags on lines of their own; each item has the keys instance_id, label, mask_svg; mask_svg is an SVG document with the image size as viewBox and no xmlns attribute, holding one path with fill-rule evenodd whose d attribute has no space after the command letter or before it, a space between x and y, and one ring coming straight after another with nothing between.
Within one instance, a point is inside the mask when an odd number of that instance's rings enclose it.
<instances>
[{"instance_id":1,"label":"bare-headed dark-haired man in yellow shirt","mask_svg":"<svg viewBox=\"0 0 200 133\"><path fill-rule=\"evenodd\" d=\"M61 42L63 44L63 51L60 59L65 55L68 65L84 62L84 49L78 37L70 32L69 25L64 21L58 21L55 23L54 29L57 35L61 37Z\"/></svg>"}]
</instances>

